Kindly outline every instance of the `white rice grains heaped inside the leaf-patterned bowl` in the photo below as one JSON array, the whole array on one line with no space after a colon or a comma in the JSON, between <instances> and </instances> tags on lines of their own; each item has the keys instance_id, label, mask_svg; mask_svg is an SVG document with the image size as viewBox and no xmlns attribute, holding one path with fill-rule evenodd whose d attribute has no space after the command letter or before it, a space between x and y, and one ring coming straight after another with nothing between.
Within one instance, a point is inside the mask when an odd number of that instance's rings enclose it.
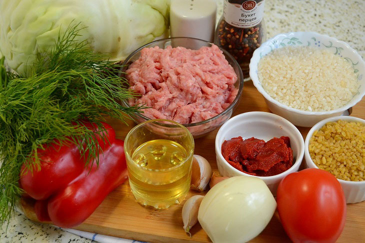
<instances>
[{"instance_id":1,"label":"white rice grains heaped inside the leaf-patterned bowl","mask_svg":"<svg viewBox=\"0 0 365 243\"><path fill-rule=\"evenodd\" d=\"M342 107L359 87L352 64L310 46L274 49L258 62L258 78L272 98L306 111Z\"/></svg>"}]
</instances>

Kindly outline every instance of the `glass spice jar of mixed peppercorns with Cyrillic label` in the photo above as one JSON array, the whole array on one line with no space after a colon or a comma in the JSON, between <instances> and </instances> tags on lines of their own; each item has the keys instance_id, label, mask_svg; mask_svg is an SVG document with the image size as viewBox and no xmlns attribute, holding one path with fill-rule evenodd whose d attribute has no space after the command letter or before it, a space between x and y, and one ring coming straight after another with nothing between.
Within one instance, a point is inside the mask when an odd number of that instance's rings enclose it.
<instances>
[{"instance_id":1,"label":"glass spice jar of mixed peppercorns with Cyrillic label","mask_svg":"<svg viewBox=\"0 0 365 243\"><path fill-rule=\"evenodd\" d=\"M253 51L266 38L264 1L224 0L223 14L216 27L214 43L237 60L244 80L249 79L248 65Z\"/></svg>"}]
</instances>

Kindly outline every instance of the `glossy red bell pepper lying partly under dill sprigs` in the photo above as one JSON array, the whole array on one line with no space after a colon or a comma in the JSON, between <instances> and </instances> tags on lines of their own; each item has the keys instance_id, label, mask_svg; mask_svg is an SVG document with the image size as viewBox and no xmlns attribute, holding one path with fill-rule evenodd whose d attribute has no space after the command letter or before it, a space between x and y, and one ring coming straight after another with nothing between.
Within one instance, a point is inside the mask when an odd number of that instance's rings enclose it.
<instances>
[{"instance_id":1,"label":"glossy red bell pepper lying partly under dill sprigs","mask_svg":"<svg viewBox=\"0 0 365 243\"><path fill-rule=\"evenodd\" d=\"M99 132L93 124L84 124ZM94 160L84 166L85 156L80 156L77 146L66 144L47 146L41 151L40 170L35 168L31 173L23 166L20 184L27 194L38 199L34 211L40 221L51 220L60 227L76 226L127 178L123 141L115 139L115 132L108 124L103 123L103 126L108 141L96 136L101 150L98 165ZM74 171L70 171L71 168Z\"/></svg>"}]
</instances>

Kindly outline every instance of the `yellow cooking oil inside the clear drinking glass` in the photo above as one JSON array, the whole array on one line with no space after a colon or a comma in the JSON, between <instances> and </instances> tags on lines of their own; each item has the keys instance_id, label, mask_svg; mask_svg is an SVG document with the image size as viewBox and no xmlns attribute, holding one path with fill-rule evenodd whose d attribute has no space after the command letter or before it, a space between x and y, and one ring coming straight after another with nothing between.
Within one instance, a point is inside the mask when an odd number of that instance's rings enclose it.
<instances>
[{"instance_id":1,"label":"yellow cooking oil inside the clear drinking glass","mask_svg":"<svg viewBox=\"0 0 365 243\"><path fill-rule=\"evenodd\" d=\"M139 203L166 208L183 200L190 186L192 161L183 146L167 139L150 140L134 150L131 160L129 184Z\"/></svg>"}]
</instances>

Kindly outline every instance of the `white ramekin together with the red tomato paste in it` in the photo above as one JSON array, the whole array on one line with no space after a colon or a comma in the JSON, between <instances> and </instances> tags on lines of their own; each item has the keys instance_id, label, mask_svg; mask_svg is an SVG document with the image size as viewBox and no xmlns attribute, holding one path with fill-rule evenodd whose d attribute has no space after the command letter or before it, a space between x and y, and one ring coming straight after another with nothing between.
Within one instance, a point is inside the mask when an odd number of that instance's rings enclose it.
<instances>
[{"instance_id":1,"label":"white ramekin together with the red tomato paste in it","mask_svg":"<svg viewBox=\"0 0 365 243\"><path fill-rule=\"evenodd\" d=\"M285 118L252 111L226 121L215 137L216 163L222 176L255 176L273 195L283 177L299 169L304 140Z\"/></svg>"}]
</instances>

